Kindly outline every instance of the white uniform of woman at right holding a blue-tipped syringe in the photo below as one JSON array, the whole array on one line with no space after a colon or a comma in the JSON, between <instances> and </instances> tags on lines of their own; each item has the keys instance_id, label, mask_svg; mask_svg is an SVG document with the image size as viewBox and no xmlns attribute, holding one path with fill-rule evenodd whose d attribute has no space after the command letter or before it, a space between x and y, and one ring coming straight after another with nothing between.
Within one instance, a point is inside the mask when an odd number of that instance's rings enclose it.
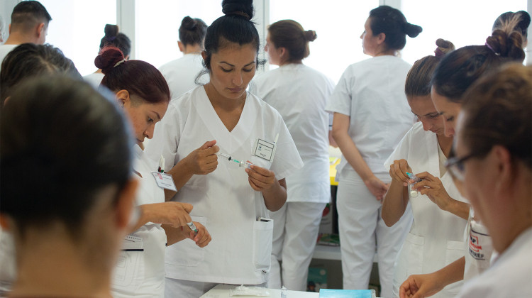
<instances>
[{"instance_id":1,"label":"white uniform of woman at right holding a blue-tipped syringe","mask_svg":"<svg viewBox=\"0 0 532 298\"><path fill-rule=\"evenodd\" d=\"M445 172L440 175L440 163L445 155L438 154L436 133L424 131L423 124L414 124L401 143L384 163L389 169L394 160L408 161L414 173L429 172L440 178L450 197L467 202L455 187L452 177ZM441 158L440 158L441 157ZM442 160L442 158L444 160ZM467 221L443 211L426 195L409 198L414 221L397 257L394 274L394 297L399 297L399 286L409 275L431 273L464 256L463 232ZM435 298L455 297L462 282L443 288Z\"/></svg>"}]
</instances>

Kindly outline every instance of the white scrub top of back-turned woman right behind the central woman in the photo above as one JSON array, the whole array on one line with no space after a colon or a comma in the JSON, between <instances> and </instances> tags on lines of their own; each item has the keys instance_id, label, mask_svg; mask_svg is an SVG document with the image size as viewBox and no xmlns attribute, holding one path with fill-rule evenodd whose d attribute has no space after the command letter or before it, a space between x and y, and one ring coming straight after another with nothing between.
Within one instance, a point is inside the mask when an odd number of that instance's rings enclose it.
<instances>
[{"instance_id":1,"label":"white scrub top of back-turned woman right behind the central woman","mask_svg":"<svg viewBox=\"0 0 532 298\"><path fill-rule=\"evenodd\" d=\"M287 124L304 167L287 177L287 202L328 203L329 115L334 83L311 67L291 63L253 79L250 92L273 106Z\"/></svg>"}]
</instances>

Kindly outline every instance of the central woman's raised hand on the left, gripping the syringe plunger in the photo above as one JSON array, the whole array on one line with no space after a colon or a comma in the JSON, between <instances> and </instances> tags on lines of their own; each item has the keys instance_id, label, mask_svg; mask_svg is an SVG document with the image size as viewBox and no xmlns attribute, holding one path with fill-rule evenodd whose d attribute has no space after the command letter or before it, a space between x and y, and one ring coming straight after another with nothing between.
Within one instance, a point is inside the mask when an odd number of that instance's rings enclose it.
<instances>
[{"instance_id":1,"label":"central woman's raised hand on the left, gripping the syringe plunger","mask_svg":"<svg viewBox=\"0 0 532 298\"><path fill-rule=\"evenodd\" d=\"M187 163L192 174L206 175L216 170L218 166L216 153L219 150L220 148L216 146L216 140L209 140L187 155Z\"/></svg>"}]
</instances>

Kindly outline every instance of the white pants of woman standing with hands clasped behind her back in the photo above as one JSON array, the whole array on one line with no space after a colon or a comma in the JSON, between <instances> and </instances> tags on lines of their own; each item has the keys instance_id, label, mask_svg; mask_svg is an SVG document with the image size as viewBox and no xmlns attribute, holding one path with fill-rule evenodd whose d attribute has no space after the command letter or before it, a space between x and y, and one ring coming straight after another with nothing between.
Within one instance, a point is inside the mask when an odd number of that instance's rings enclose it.
<instances>
[{"instance_id":1,"label":"white pants of woman standing with hands clasped behind her back","mask_svg":"<svg viewBox=\"0 0 532 298\"><path fill-rule=\"evenodd\" d=\"M391 179L388 173L376 176L384 183ZM380 297L392 297L394 262L410 231L411 209L406 209L404 216L389 228L381 218L381 202L375 199L358 175L348 178L338 181L336 196L343 288L367 289L377 245Z\"/></svg>"}]
</instances>

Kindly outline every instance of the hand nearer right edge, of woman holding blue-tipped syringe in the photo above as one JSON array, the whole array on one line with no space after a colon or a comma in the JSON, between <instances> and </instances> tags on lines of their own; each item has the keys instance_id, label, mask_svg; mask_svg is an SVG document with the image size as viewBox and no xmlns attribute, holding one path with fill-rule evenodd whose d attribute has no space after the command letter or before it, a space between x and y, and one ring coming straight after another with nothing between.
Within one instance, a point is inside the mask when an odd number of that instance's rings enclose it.
<instances>
[{"instance_id":1,"label":"hand nearer right edge, of woman holding blue-tipped syringe","mask_svg":"<svg viewBox=\"0 0 532 298\"><path fill-rule=\"evenodd\" d=\"M448 206L454 201L449 196L445 187L441 183L440 178L435 177L428 172L416 174L416 177L421 179L420 182L414 184L412 189L418 191L420 194L426 194L428 199L431 199L434 204L444 211L448 210Z\"/></svg>"}]
</instances>

